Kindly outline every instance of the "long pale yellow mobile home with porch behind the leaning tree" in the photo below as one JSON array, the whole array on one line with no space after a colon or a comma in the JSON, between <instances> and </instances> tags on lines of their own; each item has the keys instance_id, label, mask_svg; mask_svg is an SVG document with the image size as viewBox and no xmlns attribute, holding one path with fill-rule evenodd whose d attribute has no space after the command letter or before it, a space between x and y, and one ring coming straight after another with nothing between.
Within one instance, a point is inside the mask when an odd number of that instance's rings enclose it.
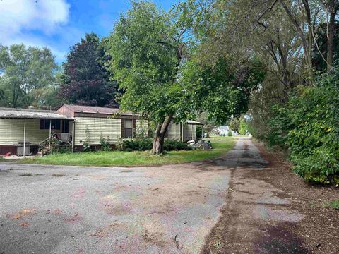
<instances>
[{"instance_id":1,"label":"long pale yellow mobile home with porch behind the leaning tree","mask_svg":"<svg viewBox=\"0 0 339 254\"><path fill-rule=\"evenodd\" d=\"M196 138L196 121L170 123L166 138L187 141ZM69 140L73 151L81 151L87 139L100 148L100 135L112 147L124 138L148 137L148 121L140 116L107 107L64 104L57 111L0 108L0 155L28 155L51 135Z\"/></svg>"}]
</instances>

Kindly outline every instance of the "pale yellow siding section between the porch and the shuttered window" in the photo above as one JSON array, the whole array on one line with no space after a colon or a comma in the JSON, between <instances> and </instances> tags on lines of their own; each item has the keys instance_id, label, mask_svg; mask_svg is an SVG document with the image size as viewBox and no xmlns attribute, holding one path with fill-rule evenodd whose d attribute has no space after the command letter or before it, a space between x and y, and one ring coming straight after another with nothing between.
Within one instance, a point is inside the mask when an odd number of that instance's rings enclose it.
<instances>
[{"instance_id":1,"label":"pale yellow siding section between the porch and the shuttered window","mask_svg":"<svg viewBox=\"0 0 339 254\"><path fill-rule=\"evenodd\" d=\"M90 145L100 144L100 134L105 139L109 136L111 144L120 143L121 119L76 117L74 145L82 145L85 141L86 126L88 126Z\"/></svg>"}]
</instances>

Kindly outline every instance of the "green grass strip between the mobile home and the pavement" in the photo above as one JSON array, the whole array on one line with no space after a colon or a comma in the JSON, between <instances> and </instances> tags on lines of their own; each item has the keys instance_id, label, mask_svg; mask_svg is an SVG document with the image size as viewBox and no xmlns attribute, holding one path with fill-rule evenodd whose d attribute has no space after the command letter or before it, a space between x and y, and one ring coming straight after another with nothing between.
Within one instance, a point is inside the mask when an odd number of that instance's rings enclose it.
<instances>
[{"instance_id":1,"label":"green grass strip between the mobile home and the pavement","mask_svg":"<svg viewBox=\"0 0 339 254\"><path fill-rule=\"evenodd\" d=\"M218 138L211 140L213 150L172 151L165 155L150 155L150 152L79 152L47 155L20 162L29 164L78 165L78 166L151 166L162 164L180 164L185 162L201 162L220 157L232 149L235 138Z\"/></svg>"}]
</instances>

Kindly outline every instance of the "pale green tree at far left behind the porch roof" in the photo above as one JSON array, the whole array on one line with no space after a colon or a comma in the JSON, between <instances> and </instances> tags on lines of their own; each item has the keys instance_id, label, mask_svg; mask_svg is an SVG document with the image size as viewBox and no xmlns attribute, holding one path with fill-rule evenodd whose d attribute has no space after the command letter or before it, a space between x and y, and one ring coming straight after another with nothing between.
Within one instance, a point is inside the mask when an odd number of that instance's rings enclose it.
<instances>
[{"instance_id":1,"label":"pale green tree at far left behind the porch roof","mask_svg":"<svg viewBox=\"0 0 339 254\"><path fill-rule=\"evenodd\" d=\"M0 45L0 80L5 107L27 107L37 100L35 90L55 82L57 64L48 48Z\"/></svg>"}]
</instances>

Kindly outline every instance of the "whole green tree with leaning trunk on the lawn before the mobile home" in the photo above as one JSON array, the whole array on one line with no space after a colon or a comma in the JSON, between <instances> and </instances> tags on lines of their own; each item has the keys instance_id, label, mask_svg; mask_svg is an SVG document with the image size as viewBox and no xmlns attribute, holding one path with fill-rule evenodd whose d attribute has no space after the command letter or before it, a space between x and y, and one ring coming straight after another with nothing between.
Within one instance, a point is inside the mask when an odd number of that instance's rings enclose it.
<instances>
[{"instance_id":1,"label":"whole green tree with leaning trunk on the lawn before the mobile home","mask_svg":"<svg viewBox=\"0 0 339 254\"><path fill-rule=\"evenodd\" d=\"M106 40L109 66L125 91L121 107L157 124L154 154L163 151L171 121L185 120L201 110L222 122L244 111L246 103L238 102L246 100L250 90L246 82L254 81L249 69L229 72L223 59L213 68L190 57L196 42L191 33L192 11L191 1L169 13L149 2L133 2Z\"/></svg>"}]
</instances>

